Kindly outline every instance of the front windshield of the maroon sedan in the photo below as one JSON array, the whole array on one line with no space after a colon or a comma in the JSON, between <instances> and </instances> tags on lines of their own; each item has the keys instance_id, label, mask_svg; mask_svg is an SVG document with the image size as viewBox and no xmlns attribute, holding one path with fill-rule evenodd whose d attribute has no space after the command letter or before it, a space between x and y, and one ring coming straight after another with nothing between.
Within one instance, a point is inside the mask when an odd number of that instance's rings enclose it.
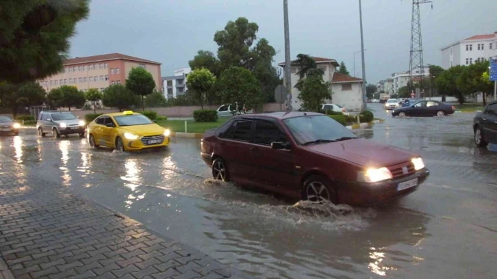
<instances>
[{"instance_id":1,"label":"front windshield of the maroon sedan","mask_svg":"<svg viewBox=\"0 0 497 279\"><path fill-rule=\"evenodd\" d=\"M329 116L301 116L283 120L298 144L337 142L357 137Z\"/></svg>"}]
</instances>

